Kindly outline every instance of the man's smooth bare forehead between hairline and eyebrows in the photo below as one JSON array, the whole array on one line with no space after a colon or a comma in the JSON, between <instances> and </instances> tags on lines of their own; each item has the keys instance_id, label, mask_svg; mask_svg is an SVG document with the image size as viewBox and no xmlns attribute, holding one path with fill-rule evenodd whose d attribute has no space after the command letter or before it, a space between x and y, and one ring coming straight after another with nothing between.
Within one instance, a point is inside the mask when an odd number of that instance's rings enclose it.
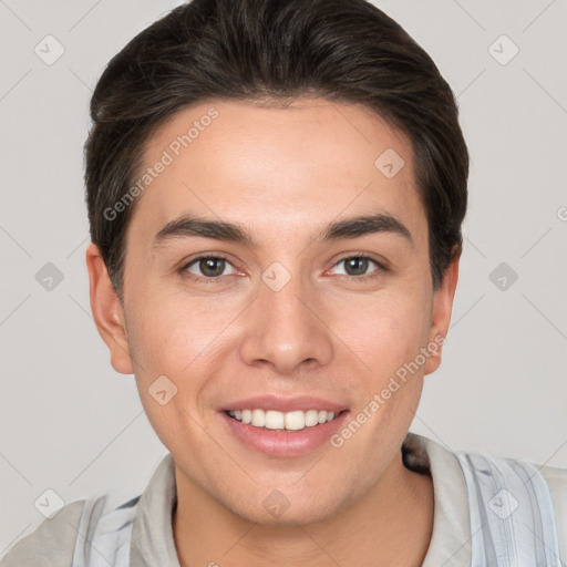
<instances>
[{"instance_id":1,"label":"man's smooth bare forehead between hairline and eyebrows","mask_svg":"<svg viewBox=\"0 0 567 567\"><path fill-rule=\"evenodd\" d=\"M152 179L137 197L132 224L152 236L186 213L266 234L277 224L288 236L309 230L318 218L347 214L386 212L406 225L425 219L411 143L357 104L311 99L286 107L194 105L147 141L141 175L147 168Z\"/></svg>"}]
</instances>

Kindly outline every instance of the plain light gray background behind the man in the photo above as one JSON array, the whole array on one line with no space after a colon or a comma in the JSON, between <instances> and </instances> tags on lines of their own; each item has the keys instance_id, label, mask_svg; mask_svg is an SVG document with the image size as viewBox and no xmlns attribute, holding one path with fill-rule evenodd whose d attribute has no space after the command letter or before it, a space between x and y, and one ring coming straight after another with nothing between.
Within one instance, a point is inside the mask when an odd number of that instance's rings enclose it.
<instances>
[{"instance_id":1,"label":"plain light gray background behind the man","mask_svg":"<svg viewBox=\"0 0 567 567\"><path fill-rule=\"evenodd\" d=\"M166 452L91 317L82 146L104 65L178 3L0 0L0 553L43 519L45 489L137 494ZM567 467L566 2L377 4L452 85L472 155L452 328L412 430ZM51 65L34 52L56 53L48 34L64 48Z\"/></svg>"}]
</instances>

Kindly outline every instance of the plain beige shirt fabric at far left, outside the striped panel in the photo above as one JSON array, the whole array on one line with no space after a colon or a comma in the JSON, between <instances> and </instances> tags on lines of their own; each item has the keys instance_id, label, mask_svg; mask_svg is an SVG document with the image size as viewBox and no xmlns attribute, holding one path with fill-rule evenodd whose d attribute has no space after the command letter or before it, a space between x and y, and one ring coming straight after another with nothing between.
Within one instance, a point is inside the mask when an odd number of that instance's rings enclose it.
<instances>
[{"instance_id":1,"label":"plain beige shirt fabric at far left, outside the striped panel","mask_svg":"<svg viewBox=\"0 0 567 567\"><path fill-rule=\"evenodd\" d=\"M8 551L1 567L70 567L85 504L84 499L75 501L63 506L53 517L44 519Z\"/></svg>"}]
</instances>

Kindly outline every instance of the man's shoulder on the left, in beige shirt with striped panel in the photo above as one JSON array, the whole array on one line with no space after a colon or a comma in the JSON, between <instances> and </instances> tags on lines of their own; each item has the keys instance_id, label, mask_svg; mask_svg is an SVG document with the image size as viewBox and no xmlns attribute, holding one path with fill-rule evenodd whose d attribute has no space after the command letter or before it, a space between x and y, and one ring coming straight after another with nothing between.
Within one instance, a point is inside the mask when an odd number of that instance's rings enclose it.
<instances>
[{"instance_id":1,"label":"man's shoulder on the left, in beige shirt with striped panel","mask_svg":"<svg viewBox=\"0 0 567 567\"><path fill-rule=\"evenodd\" d=\"M138 499L117 492L72 502L17 542L0 567L89 566L92 549L127 565Z\"/></svg>"}]
</instances>

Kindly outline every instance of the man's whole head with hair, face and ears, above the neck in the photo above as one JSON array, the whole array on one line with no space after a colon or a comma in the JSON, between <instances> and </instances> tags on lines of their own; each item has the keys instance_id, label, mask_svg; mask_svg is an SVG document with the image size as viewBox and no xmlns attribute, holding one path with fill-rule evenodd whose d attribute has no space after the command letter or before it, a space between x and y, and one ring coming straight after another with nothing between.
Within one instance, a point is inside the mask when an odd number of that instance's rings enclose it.
<instances>
[{"instance_id":1,"label":"man's whole head with hair, face and ears, above the neck","mask_svg":"<svg viewBox=\"0 0 567 567\"><path fill-rule=\"evenodd\" d=\"M449 329L468 156L435 64L363 0L194 0L110 62L91 116L93 313L178 477L255 522L348 508L399 460ZM225 411L270 394L368 419L268 456Z\"/></svg>"}]
</instances>

